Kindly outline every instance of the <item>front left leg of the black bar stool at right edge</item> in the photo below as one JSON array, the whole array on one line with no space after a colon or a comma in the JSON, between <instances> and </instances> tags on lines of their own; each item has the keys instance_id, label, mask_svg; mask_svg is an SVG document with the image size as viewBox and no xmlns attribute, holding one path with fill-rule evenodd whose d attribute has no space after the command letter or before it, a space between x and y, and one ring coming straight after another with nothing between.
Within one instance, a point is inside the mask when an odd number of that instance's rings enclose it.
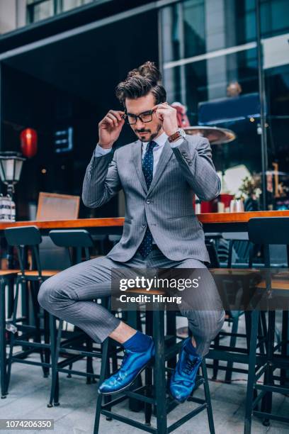
<instances>
[{"instance_id":1,"label":"front left leg of the black bar stool at right edge","mask_svg":"<svg viewBox=\"0 0 289 434\"><path fill-rule=\"evenodd\" d=\"M251 312L250 322L251 322L251 333L249 339L249 367L248 367L248 382L247 382L247 390L246 390L244 434L251 434L251 417L253 412L256 345L257 345L259 311Z\"/></svg>"}]
</instances>

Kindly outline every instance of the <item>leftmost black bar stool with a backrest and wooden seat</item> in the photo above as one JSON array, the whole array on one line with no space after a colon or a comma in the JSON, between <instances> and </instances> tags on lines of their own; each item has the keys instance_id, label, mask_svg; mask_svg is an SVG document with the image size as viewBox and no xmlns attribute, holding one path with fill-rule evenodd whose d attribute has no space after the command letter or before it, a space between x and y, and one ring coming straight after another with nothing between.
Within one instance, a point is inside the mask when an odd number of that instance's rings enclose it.
<instances>
[{"instance_id":1,"label":"leftmost black bar stool with a backrest and wooden seat","mask_svg":"<svg viewBox=\"0 0 289 434\"><path fill-rule=\"evenodd\" d=\"M41 243L40 231L36 226L21 226L15 228L7 228L4 230L4 235L8 245L16 247L18 253L18 261L20 265L21 272L18 272L16 279L16 294L13 300L13 315L11 321L7 321L11 326L10 335L10 350L8 356L8 372L6 381L6 390L8 391L8 384L11 378L11 365L13 362L25 363L28 365L41 366L44 377L48 376L49 369L51 367L50 355L54 354L55 342L54 337L49 333L49 323L51 321L51 315L47 312L44 314L44 328L40 328L40 317L38 311L38 300L35 287L32 285L40 286L40 284L49 277L57 274L57 270L43 270L40 265L40 258L38 247ZM26 249L30 247L32 251L34 269L27 270L25 268L25 252ZM33 307L33 319L35 325L31 323L25 323L26 318L17 318L17 308L18 308L18 296L20 287L25 286L27 289L27 284L31 286L31 298ZM18 330L22 332L20 338L16 338L16 332L18 335ZM42 343L42 335L44 336L44 343ZM33 338L33 342L30 341ZM20 345L22 348L27 347L27 350L22 350L16 355L13 355L13 348L16 345ZM40 362L34 360L26 360L26 357L33 352L40 353Z\"/></svg>"}]
</instances>

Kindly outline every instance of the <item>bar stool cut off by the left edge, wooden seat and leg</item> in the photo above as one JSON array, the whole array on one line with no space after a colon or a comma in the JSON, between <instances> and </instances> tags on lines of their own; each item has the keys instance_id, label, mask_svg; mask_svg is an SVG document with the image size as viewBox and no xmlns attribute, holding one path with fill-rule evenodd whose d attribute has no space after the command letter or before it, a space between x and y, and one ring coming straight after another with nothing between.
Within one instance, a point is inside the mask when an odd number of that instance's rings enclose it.
<instances>
[{"instance_id":1,"label":"bar stool cut off by the left edge, wooden seat and leg","mask_svg":"<svg viewBox=\"0 0 289 434\"><path fill-rule=\"evenodd\" d=\"M1 399L6 398L7 391L7 356L6 356L6 286L10 290L18 276L18 269L0 270L0 374Z\"/></svg>"}]
</instances>

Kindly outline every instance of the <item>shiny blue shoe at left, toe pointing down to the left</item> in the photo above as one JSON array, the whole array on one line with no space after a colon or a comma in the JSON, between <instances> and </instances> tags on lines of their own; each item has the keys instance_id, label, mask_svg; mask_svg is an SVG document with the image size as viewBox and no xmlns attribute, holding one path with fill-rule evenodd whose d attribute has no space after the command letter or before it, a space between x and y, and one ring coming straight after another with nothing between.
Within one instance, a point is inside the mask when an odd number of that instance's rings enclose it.
<instances>
[{"instance_id":1,"label":"shiny blue shoe at left, toe pointing down to the left","mask_svg":"<svg viewBox=\"0 0 289 434\"><path fill-rule=\"evenodd\" d=\"M152 340L152 338L150 338ZM149 360L154 357L154 341L149 345L147 351L135 352L125 350L123 362L118 372L104 380L98 387L98 393L103 395L118 394L120 391L127 389L140 372L148 365Z\"/></svg>"}]
</instances>

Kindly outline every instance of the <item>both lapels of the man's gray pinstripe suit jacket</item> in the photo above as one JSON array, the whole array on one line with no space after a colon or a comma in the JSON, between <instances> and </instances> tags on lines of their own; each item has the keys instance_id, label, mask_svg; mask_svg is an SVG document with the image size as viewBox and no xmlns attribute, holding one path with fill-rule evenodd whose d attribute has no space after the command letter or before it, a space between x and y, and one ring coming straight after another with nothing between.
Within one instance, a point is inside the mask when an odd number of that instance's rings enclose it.
<instances>
[{"instance_id":1,"label":"both lapels of the man's gray pinstripe suit jacket","mask_svg":"<svg viewBox=\"0 0 289 434\"><path fill-rule=\"evenodd\" d=\"M169 144L168 140L166 140L166 143L164 144L164 148L162 150L162 154L159 157L157 170L152 179L152 184L150 184L149 190L147 191L147 184L145 182L144 172L142 172L142 142L140 140L137 140L137 143L133 145L132 159L135 164L135 170L137 172L137 176L140 179L140 184L142 184L142 187L145 190L146 194L149 194L152 191L152 189L154 189L154 187L157 185L157 182L162 176L162 172L164 172L164 169L168 164L171 155L173 155L173 151L171 150L171 145Z\"/></svg>"}]
</instances>

